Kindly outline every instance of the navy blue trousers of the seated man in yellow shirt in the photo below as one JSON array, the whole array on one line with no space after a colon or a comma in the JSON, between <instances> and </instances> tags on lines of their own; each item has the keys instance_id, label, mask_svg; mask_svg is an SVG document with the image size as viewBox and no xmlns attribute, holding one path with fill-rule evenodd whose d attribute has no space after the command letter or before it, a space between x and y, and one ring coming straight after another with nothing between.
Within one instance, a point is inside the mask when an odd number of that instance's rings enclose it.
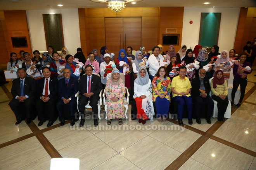
<instances>
[{"instance_id":1,"label":"navy blue trousers of the seated man in yellow shirt","mask_svg":"<svg viewBox=\"0 0 256 170\"><path fill-rule=\"evenodd\" d=\"M178 119L182 119L185 104L187 105L188 119L192 119L193 102L191 96L175 96L173 99L178 103Z\"/></svg>"}]
</instances>

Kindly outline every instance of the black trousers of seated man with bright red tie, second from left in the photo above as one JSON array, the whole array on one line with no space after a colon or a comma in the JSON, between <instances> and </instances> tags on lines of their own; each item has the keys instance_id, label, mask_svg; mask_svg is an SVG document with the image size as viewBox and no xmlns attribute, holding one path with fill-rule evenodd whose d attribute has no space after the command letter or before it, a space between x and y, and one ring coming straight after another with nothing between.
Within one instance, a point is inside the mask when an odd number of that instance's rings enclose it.
<instances>
[{"instance_id":1,"label":"black trousers of seated man with bright red tie, second from left","mask_svg":"<svg viewBox=\"0 0 256 170\"><path fill-rule=\"evenodd\" d=\"M55 121L57 118L56 99L51 98L48 102L43 102L41 99L36 101L36 109L38 112L38 120Z\"/></svg>"}]
</instances>

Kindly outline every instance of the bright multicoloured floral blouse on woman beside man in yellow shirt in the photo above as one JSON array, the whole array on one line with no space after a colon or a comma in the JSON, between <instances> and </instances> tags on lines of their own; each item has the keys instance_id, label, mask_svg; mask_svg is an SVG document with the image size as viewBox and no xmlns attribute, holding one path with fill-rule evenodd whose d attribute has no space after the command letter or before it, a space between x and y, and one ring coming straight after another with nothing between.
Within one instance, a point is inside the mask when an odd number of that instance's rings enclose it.
<instances>
[{"instance_id":1,"label":"bright multicoloured floral blouse on woman beside man in yellow shirt","mask_svg":"<svg viewBox=\"0 0 256 170\"><path fill-rule=\"evenodd\" d=\"M167 100L171 100L170 93L171 93L171 79L170 77L164 78L162 81L160 77L155 76L152 81L152 88L153 88L153 94L152 99L153 102L156 101L156 98L158 97L157 92L159 94L165 94L165 98Z\"/></svg>"}]
</instances>

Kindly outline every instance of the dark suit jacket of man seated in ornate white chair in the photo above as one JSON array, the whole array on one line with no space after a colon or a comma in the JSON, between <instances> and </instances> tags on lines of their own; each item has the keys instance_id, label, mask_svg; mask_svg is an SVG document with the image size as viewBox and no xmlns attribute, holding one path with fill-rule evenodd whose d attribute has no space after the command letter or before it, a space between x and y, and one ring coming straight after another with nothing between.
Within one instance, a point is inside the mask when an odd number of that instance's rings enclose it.
<instances>
[{"instance_id":1,"label":"dark suit jacket of man seated in ornate white chair","mask_svg":"<svg viewBox=\"0 0 256 170\"><path fill-rule=\"evenodd\" d=\"M80 77L78 90L81 95L87 93L87 75ZM93 92L94 95L99 95L101 90L102 85L99 76L92 74L91 92Z\"/></svg>"}]
</instances>

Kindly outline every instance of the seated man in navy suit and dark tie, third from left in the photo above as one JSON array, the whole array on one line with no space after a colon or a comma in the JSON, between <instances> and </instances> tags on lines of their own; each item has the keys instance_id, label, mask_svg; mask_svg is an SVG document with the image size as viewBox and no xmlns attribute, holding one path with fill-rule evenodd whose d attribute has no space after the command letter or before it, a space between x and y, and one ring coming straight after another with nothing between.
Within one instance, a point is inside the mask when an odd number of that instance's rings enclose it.
<instances>
[{"instance_id":1,"label":"seated man in navy suit and dark tie, third from left","mask_svg":"<svg viewBox=\"0 0 256 170\"><path fill-rule=\"evenodd\" d=\"M57 102L57 110L61 118L61 126L65 124L64 117L64 105L67 105L70 115L71 122L70 125L73 126L74 113L76 112L76 97L75 94L78 92L78 81L76 78L71 77L70 70L65 68L63 70L63 75L65 78L59 80L59 99Z\"/></svg>"}]
</instances>

